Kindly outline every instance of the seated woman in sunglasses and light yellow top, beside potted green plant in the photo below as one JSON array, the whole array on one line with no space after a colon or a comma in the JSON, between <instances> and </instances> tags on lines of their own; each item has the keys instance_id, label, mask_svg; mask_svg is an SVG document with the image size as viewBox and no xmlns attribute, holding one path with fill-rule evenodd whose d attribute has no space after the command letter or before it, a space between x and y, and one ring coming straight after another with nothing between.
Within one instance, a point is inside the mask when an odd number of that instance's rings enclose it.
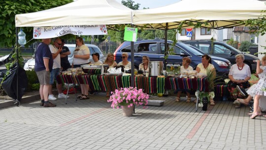
<instances>
[{"instance_id":1,"label":"seated woman in sunglasses and light yellow top, beside potted green plant","mask_svg":"<svg viewBox=\"0 0 266 150\"><path fill-rule=\"evenodd\" d=\"M214 73L213 75L216 76L215 68L211 64L210 56L205 54L205 55L201 56L201 63L197 66L196 71L198 73L201 73L201 74L207 76L207 70L210 70L211 72ZM195 102L197 103L197 100L195 100L194 103ZM213 99L210 100L210 105L212 105L212 106L215 105Z\"/></svg>"}]
</instances>

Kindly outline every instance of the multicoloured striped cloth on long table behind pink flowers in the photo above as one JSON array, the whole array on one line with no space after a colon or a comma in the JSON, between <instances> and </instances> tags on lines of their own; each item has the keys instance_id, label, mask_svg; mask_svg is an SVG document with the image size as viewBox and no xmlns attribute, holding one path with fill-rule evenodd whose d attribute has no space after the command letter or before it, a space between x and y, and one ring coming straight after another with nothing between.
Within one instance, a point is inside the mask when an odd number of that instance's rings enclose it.
<instances>
[{"instance_id":1,"label":"multicoloured striped cloth on long table behind pink flowers","mask_svg":"<svg viewBox=\"0 0 266 150\"><path fill-rule=\"evenodd\" d=\"M58 75L56 79L59 84L89 84L95 91L115 91L132 86L131 76L122 75ZM134 87L141 88L146 93L165 93L165 78L134 76Z\"/></svg>"}]
</instances>

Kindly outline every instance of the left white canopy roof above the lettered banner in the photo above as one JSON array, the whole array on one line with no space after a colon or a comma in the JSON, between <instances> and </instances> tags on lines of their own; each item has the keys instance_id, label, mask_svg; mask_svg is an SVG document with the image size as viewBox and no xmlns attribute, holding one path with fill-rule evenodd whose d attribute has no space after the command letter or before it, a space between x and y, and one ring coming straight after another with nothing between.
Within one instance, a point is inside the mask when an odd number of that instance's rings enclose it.
<instances>
[{"instance_id":1,"label":"left white canopy roof above the lettered banner","mask_svg":"<svg viewBox=\"0 0 266 150\"><path fill-rule=\"evenodd\" d=\"M132 24L132 9L116 0L76 0L43 11L17 14L16 27Z\"/></svg>"}]
</instances>

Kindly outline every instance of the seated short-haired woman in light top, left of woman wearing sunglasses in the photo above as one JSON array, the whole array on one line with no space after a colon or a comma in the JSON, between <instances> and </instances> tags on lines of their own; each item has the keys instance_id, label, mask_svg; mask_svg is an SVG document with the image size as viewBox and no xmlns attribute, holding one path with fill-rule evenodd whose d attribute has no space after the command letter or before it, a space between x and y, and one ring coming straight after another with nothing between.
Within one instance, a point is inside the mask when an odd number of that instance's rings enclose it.
<instances>
[{"instance_id":1,"label":"seated short-haired woman in light top, left of woman wearing sunglasses","mask_svg":"<svg viewBox=\"0 0 266 150\"><path fill-rule=\"evenodd\" d=\"M193 68L190 66L191 60L188 57L183 57L182 58L183 62L182 62L182 66L180 67L180 72L184 73L184 72L189 72L189 71L193 71ZM187 93L187 103L190 103L191 101L191 97L190 97L190 90L189 89L178 89L177 90L177 96L175 99L175 102L179 102L180 101L180 96L181 96L181 92L185 91Z\"/></svg>"}]
</instances>

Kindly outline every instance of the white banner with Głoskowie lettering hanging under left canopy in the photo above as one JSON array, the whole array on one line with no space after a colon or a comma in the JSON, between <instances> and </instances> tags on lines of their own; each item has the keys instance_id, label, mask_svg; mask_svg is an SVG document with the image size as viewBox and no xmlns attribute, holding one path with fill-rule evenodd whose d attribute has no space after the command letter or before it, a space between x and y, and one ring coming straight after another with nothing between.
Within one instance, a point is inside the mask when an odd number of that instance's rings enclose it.
<instances>
[{"instance_id":1,"label":"white banner with G\u0142oskowie lettering hanging under left canopy","mask_svg":"<svg viewBox=\"0 0 266 150\"><path fill-rule=\"evenodd\" d=\"M67 34L72 35L107 35L105 25L82 25L82 26L53 26L53 27L34 27L33 38L56 38Z\"/></svg>"}]
</instances>

